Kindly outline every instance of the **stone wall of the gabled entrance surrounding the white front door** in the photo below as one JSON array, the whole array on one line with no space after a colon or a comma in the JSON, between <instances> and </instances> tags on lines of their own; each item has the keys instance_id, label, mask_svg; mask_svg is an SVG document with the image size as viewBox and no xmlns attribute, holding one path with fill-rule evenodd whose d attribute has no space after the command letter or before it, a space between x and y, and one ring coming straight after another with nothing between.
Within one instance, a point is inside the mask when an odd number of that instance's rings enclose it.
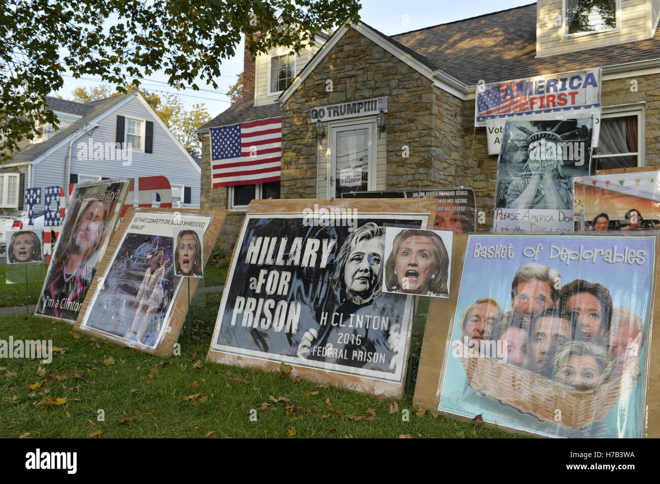
<instances>
[{"instance_id":1,"label":"stone wall of the gabled entrance surrounding the white front door","mask_svg":"<svg viewBox=\"0 0 660 484\"><path fill-rule=\"evenodd\" d=\"M326 92L327 80L333 92ZM461 146L460 123L446 126L436 113L451 118L458 99L449 99L428 78L349 29L282 106L282 198L316 194L318 146L310 109L381 96L388 96L381 135L387 136L386 188L437 186L453 176L443 173L453 156L446 143L454 138L449 143ZM409 157L403 157L405 146Z\"/></svg>"}]
</instances>

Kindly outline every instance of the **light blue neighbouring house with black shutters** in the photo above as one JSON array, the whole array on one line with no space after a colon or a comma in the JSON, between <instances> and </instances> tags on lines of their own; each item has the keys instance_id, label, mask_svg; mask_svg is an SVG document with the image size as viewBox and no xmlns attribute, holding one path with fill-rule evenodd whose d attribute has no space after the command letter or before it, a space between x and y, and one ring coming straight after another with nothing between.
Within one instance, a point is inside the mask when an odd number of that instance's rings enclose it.
<instances>
[{"instance_id":1,"label":"light blue neighbouring house with black shutters","mask_svg":"<svg viewBox=\"0 0 660 484\"><path fill-rule=\"evenodd\" d=\"M48 105L58 129L39 126L0 167L0 213L21 215L26 188L42 188L38 215L44 188L109 178L134 178L137 203L138 179L153 175L170 180L173 207L199 207L199 164L138 92L91 103L48 97Z\"/></svg>"}]
</instances>

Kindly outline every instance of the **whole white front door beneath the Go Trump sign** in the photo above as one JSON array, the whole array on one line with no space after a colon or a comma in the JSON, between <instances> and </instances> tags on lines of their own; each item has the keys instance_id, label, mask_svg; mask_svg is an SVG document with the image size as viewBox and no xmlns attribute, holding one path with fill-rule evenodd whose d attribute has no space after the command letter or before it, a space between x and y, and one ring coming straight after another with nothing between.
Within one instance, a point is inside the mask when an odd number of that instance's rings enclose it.
<instances>
[{"instance_id":1,"label":"whole white front door beneath the Go Trump sign","mask_svg":"<svg viewBox=\"0 0 660 484\"><path fill-rule=\"evenodd\" d=\"M330 126L330 173L328 196L374 190L374 123Z\"/></svg>"}]
</instances>

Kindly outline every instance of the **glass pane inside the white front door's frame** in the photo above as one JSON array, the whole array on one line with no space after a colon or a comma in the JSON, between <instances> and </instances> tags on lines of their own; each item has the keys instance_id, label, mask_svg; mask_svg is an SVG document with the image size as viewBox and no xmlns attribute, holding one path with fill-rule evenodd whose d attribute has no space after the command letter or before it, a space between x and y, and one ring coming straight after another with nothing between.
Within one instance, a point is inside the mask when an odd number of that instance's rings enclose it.
<instances>
[{"instance_id":1,"label":"glass pane inside the white front door's frame","mask_svg":"<svg viewBox=\"0 0 660 484\"><path fill-rule=\"evenodd\" d=\"M337 132L335 197L368 190L369 128Z\"/></svg>"}]
</instances>

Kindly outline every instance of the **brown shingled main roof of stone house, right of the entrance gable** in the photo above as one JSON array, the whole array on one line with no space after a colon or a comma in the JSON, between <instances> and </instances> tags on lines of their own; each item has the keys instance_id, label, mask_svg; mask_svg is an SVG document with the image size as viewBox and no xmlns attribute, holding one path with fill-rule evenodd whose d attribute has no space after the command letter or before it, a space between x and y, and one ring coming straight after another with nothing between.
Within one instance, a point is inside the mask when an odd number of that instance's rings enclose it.
<instances>
[{"instance_id":1,"label":"brown shingled main roof of stone house, right of the entrance gable","mask_svg":"<svg viewBox=\"0 0 660 484\"><path fill-rule=\"evenodd\" d=\"M660 58L652 39L536 57L536 3L392 36L468 85Z\"/></svg>"}]
</instances>

